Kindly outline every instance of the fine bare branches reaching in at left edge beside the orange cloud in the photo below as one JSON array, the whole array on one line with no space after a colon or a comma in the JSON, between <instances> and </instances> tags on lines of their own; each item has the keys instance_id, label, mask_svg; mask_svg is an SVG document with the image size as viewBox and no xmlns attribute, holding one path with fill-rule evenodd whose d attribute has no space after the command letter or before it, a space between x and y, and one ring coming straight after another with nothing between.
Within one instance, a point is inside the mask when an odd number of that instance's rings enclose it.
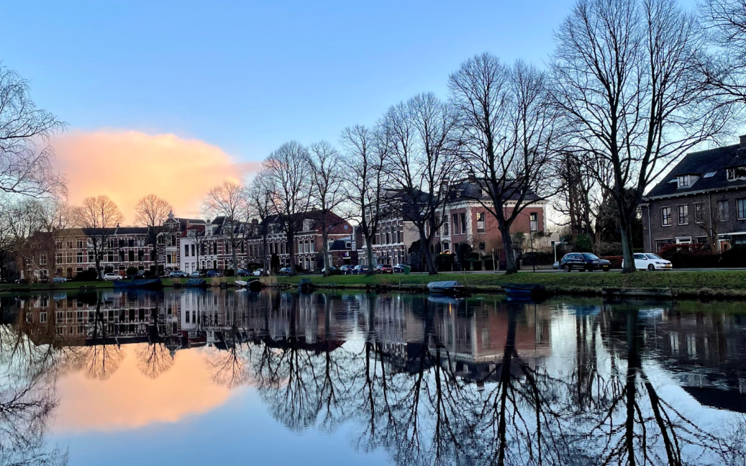
<instances>
[{"instance_id":1,"label":"fine bare branches reaching in at left edge beside the orange cloud","mask_svg":"<svg viewBox=\"0 0 746 466\"><path fill-rule=\"evenodd\" d=\"M0 190L34 198L66 192L47 145L65 124L37 108L28 81L0 64Z\"/></svg>"}]
</instances>

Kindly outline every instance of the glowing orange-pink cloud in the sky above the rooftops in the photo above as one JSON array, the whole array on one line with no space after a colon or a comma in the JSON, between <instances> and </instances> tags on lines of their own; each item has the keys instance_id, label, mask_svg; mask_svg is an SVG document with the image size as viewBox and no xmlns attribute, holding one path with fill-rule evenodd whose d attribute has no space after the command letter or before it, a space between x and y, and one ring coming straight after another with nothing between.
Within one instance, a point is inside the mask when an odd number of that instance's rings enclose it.
<instances>
[{"instance_id":1,"label":"glowing orange-pink cloud in the sky above the rooftops","mask_svg":"<svg viewBox=\"0 0 746 466\"><path fill-rule=\"evenodd\" d=\"M174 213L201 218L207 191L225 180L241 183L260 163L238 163L215 145L175 134L137 131L73 131L54 142L60 171L69 179L72 204L90 195L109 196L134 222L134 206L154 193Z\"/></svg>"}]
</instances>

